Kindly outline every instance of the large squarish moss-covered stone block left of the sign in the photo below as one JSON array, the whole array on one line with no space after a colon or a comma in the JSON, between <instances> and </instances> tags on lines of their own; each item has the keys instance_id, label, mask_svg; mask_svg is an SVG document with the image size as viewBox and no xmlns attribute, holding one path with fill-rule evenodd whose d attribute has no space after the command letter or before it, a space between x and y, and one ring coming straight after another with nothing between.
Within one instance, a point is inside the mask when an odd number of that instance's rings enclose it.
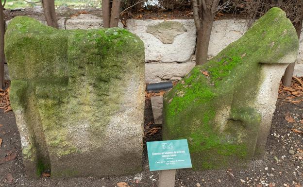
<instances>
[{"instance_id":1,"label":"large squarish moss-covered stone block left of the sign","mask_svg":"<svg viewBox=\"0 0 303 187\"><path fill-rule=\"evenodd\" d=\"M137 36L118 28L57 30L15 17L5 54L28 175L141 170L144 44Z\"/></svg>"}]
</instances>

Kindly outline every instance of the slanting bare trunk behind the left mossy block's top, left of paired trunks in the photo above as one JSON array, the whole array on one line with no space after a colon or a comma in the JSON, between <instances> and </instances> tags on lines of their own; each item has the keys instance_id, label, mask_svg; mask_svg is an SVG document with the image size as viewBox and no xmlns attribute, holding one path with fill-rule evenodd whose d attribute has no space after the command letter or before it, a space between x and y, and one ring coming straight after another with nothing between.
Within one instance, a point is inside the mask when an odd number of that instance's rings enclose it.
<instances>
[{"instance_id":1,"label":"slanting bare trunk behind the left mossy block's top, left of paired trunks","mask_svg":"<svg viewBox=\"0 0 303 187\"><path fill-rule=\"evenodd\" d=\"M55 0L41 0L41 4L44 10L44 15L48 26L58 29L55 11Z\"/></svg>"}]
</instances>

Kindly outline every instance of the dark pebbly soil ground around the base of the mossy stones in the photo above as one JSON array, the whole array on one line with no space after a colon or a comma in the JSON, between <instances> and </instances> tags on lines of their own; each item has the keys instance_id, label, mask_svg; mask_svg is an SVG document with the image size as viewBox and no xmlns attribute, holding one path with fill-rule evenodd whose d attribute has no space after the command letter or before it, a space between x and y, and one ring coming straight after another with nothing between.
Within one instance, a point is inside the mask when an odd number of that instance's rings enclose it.
<instances>
[{"instance_id":1,"label":"dark pebbly soil ground around the base of the mossy stones","mask_svg":"<svg viewBox=\"0 0 303 187\"><path fill-rule=\"evenodd\" d=\"M286 113L294 119L288 122ZM283 98L276 104L268 137L266 154L243 168L230 170L193 171L177 170L176 187L301 187L303 184L303 102L285 102ZM130 187L157 187L158 171L149 171L146 141L161 140L161 130L154 125L150 100L145 106L145 138L143 171L120 177L76 177L53 179L26 177L22 163L21 142L12 111L0 111L0 187L117 187L118 182L126 182ZM161 127L161 126L160 126ZM290 151L291 150L291 151ZM16 156L16 158L14 158ZM10 160L13 159L13 160ZM9 161L10 160L10 161ZM199 183L199 184L197 184Z\"/></svg>"}]
</instances>

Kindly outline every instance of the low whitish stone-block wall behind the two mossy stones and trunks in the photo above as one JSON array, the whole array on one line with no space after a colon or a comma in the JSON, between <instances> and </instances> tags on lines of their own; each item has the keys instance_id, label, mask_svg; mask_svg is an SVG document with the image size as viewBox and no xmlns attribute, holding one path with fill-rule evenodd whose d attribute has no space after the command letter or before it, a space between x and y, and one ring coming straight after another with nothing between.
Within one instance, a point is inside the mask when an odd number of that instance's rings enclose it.
<instances>
[{"instance_id":1,"label":"low whitish stone-block wall behind the two mossy stones and trunks","mask_svg":"<svg viewBox=\"0 0 303 187\"><path fill-rule=\"evenodd\" d=\"M46 23L43 18L41 22ZM61 17L58 21L60 29L97 29L102 28L102 22L101 17L90 14ZM245 19L216 20L209 44L209 58L240 38L247 30L246 26ZM121 22L119 27L123 27ZM180 80L195 66L196 28L193 19L129 19L126 29L144 41L146 83ZM303 37L294 74L303 76Z\"/></svg>"}]
</instances>

